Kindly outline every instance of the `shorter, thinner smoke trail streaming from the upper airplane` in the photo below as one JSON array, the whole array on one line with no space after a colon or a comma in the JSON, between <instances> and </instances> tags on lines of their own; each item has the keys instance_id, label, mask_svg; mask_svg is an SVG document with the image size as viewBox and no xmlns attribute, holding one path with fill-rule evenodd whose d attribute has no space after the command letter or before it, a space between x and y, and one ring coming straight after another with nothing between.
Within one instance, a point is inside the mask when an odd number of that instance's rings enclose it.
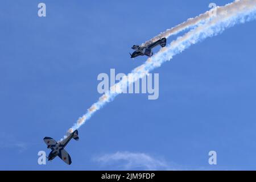
<instances>
[{"instance_id":1,"label":"shorter, thinner smoke trail streaming from the upper airplane","mask_svg":"<svg viewBox=\"0 0 256 182\"><path fill-rule=\"evenodd\" d=\"M156 42L156 40L159 40L161 38L168 38L171 35L179 34L179 32L188 30L189 28L195 28L197 26L200 26L200 24L204 24L208 20L210 20L213 17L213 11L216 11L218 15L223 15L226 13L226 11L236 9L237 6L245 6L247 3L250 3L250 1L234 1L232 3L228 3L225 6L217 6L216 9L212 9L209 11L206 11L203 14L200 14L199 16L196 16L195 18L189 18L187 21L178 24L177 26L167 29L164 32L161 32L159 35L156 35L154 38L147 40L146 42L142 43L141 46L147 46L148 44L151 44L153 42Z\"/></svg>"}]
</instances>

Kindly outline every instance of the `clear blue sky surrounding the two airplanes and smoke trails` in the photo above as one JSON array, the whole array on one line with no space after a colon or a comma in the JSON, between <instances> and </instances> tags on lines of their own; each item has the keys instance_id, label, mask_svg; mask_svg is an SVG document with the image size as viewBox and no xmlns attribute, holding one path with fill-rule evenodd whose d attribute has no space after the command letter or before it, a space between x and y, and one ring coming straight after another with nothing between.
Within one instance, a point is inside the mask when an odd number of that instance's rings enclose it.
<instances>
[{"instance_id":1,"label":"clear blue sky surrounding the two airplanes and smoke trails","mask_svg":"<svg viewBox=\"0 0 256 182\"><path fill-rule=\"evenodd\" d=\"M133 44L204 13L210 2L1 2L0 169L256 169L255 22L155 69L158 100L117 96L68 144L71 166L38 164L38 151L49 153L43 138L63 137L100 97L99 73L129 73L146 60L130 59ZM211 150L216 166L208 164Z\"/></svg>"}]
</instances>

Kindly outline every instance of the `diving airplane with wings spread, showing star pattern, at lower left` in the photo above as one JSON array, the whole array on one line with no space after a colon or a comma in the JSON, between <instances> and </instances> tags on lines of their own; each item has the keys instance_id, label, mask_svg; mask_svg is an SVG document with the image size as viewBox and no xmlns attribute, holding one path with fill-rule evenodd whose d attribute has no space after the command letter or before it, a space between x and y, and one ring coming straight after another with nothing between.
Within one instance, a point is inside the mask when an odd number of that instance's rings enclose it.
<instances>
[{"instance_id":1,"label":"diving airplane with wings spread, showing star pattern, at lower left","mask_svg":"<svg viewBox=\"0 0 256 182\"><path fill-rule=\"evenodd\" d=\"M71 139L79 140L78 137L78 131L75 130L73 133L68 135L67 138L61 140L60 142L56 142L51 137L44 137L44 142L47 144L47 148L51 148L51 152L49 153L47 159L51 161L56 156L59 156L60 159L62 159L65 163L71 164L71 157L69 156L68 152L64 150L64 147L67 146L68 142Z\"/></svg>"}]
</instances>

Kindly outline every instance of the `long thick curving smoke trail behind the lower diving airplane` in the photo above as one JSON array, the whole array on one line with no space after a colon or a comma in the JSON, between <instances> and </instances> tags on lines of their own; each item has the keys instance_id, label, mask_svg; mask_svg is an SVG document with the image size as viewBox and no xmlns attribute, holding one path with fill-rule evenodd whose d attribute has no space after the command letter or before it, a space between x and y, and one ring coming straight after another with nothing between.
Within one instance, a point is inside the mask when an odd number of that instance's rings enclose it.
<instances>
[{"instance_id":1,"label":"long thick curving smoke trail behind the lower diving airplane","mask_svg":"<svg viewBox=\"0 0 256 182\"><path fill-rule=\"evenodd\" d=\"M193 25L191 23L192 29L189 32L171 42L167 47L160 49L158 53L148 58L144 64L133 69L128 76L124 76L121 81L113 85L108 92L103 94L99 100L88 109L86 114L78 119L71 129L68 130L68 133L79 129L79 127L90 119L97 110L101 109L101 107L108 102L113 101L115 96L122 93L122 90L126 89L127 85L133 84L135 81L146 76L150 71L160 67L164 62L171 60L173 56L183 52L184 49L192 46L192 44L196 44L210 36L218 35L226 28L232 27L235 24L256 19L256 0L235 1L226 6L218 7L218 9L221 9L221 11L217 11L217 16L209 18L204 23L199 19L196 20ZM205 17L203 15L200 16ZM188 21L191 21L191 19ZM198 22L201 23L198 24ZM173 28L171 30L173 30Z\"/></svg>"}]
</instances>

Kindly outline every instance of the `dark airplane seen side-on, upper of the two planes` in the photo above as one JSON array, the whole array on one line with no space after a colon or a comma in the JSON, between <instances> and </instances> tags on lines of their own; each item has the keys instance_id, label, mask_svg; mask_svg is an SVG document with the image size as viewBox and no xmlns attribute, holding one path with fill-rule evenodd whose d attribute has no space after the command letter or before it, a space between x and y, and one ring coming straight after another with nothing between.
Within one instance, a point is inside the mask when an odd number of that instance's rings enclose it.
<instances>
[{"instance_id":1,"label":"dark airplane seen side-on, upper of the two planes","mask_svg":"<svg viewBox=\"0 0 256 182\"><path fill-rule=\"evenodd\" d=\"M131 47L132 49L135 50L132 54L130 53L131 58L134 58L137 56L144 56L144 55L151 57L153 55L152 48L154 48L158 45L160 45L161 47L165 47L166 46L166 38L159 39L158 41L151 43L148 46L134 45L133 47Z\"/></svg>"}]
</instances>

